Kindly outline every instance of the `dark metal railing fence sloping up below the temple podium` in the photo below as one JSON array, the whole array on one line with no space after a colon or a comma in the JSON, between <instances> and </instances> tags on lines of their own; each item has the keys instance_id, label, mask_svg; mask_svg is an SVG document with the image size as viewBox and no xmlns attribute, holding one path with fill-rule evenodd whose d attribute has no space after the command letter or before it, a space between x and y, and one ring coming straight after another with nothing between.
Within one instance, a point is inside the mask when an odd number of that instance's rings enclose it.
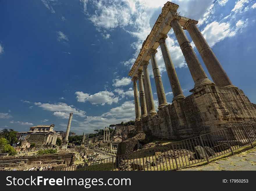
<instances>
[{"instance_id":1,"label":"dark metal railing fence sloping up below the temple podium","mask_svg":"<svg viewBox=\"0 0 256 191\"><path fill-rule=\"evenodd\" d=\"M177 170L201 163L251 145L256 141L256 119L198 137L141 149L102 160L62 167L55 170Z\"/></svg>"}]
</instances>

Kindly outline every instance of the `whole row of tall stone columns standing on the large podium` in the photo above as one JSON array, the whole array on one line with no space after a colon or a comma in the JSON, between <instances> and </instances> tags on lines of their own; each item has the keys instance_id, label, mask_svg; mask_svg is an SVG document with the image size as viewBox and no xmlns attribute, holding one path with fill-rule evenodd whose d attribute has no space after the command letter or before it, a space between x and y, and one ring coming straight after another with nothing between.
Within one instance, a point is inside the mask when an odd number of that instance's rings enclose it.
<instances>
[{"instance_id":1,"label":"whole row of tall stone columns standing on the large podium","mask_svg":"<svg viewBox=\"0 0 256 191\"><path fill-rule=\"evenodd\" d=\"M196 26L198 21L189 19L189 21L185 24L185 26L182 29L182 27L179 24L179 19L181 19L179 15L177 14L173 15L173 17L169 20L169 24L173 28L173 31L175 33L179 46L182 50L183 56L189 67L191 76L195 83L194 88L190 91L192 92L193 90L208 84L214 85L214 83L217 86L221 86L221 87L236 88L231 83L230 79L225 73L220 62L218 61L213 51L209 47L208 43L206 42L205 38L203 37L202 33ZM184 33L184 30L188 30L214 83L207 78L205 71L203 70L188 38L186 37L186 34ZM158 42L161 48L163 60L166 66L166 71L167 71L171 89L173 92L173 101L178 101L178 100L184 99L185 96L183 95L182 88L180 86L179 79L175 71L175 67L173 65L172 59L170 57L170 53L168 51L168 47L165 42L166 38L167 38L167 35L162 34L159 36ZM158 109L160 110L167 105L167 101L166 101L166 96L163 89L163 83L161 80L159 68L157 65L157 60L155 56L156 53L157 53L157 50L150 49L147 54L150 56L150 60L152 64L154 81L156 85L157 97L159 102ZM150 77L149 77L148 68L147 68L148 64L149 64L148 61L145 61L145 60L142 61L143 71L138 70L138 73L137 73L138 78L136 77L132 78L133 87L134 87L134 103L135 103L135 113L136 113L135 120L136 121L140 120L141 117L147 116L147 114L156 113L156 110L154 108L154 99L153 99L153 94L152 94L152 89L150 84ZM142 72L144 73L144 83L142 78L142 75L143 75ZM139 82L139 94L137 89L137 79ZM145 87L145 92L144 92L144 87ZM139 104L139 97L140 97L140 104Z\"/></svg>"}]
</instances>

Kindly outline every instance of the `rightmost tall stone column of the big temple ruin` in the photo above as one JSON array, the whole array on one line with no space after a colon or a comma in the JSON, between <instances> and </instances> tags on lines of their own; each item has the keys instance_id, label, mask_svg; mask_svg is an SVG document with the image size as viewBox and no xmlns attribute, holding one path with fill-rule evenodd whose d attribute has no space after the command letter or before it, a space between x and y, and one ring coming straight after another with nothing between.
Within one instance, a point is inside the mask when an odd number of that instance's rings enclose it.
<instances>
[{"instance_id":1,"label":"rightmost tall stone column of the big temple ruin","mask_svg":"<svg viewBox=\"0 0 256 191\"><path fill-rule=\"evenodd\" d=\"M216 86L234 88L235 86L230 81L229 77L221 66L221 63L211 50L209 44L206 42L196 24L198 24L198 21L189 19L189 21L186 22L185 26L183 27L183 30L189 31L195 47L198 49L198 52L200 53L213 82Z\"/></svg>"}]
</instances>

